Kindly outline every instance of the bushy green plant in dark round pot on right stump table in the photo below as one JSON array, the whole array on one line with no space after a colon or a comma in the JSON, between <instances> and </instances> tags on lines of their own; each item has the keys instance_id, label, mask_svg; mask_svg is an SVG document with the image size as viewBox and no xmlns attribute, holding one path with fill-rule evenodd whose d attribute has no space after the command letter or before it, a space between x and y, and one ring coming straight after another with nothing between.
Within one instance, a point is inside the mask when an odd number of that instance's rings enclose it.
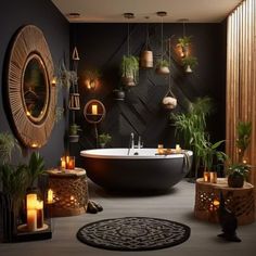
<instances>
[{"instance_id":1,"label":"bushy green plant in dark round pot on right stump table","mask_svg":"<svg viewBox=\"0 0 256 256\"><path fill-rule=\"evenodd\" d=\"M249 172L249 166L246 164L233 164L228 170L228 184L230 188L242 188L244 180L247 178Z\"/></svg>"}]
</instances>

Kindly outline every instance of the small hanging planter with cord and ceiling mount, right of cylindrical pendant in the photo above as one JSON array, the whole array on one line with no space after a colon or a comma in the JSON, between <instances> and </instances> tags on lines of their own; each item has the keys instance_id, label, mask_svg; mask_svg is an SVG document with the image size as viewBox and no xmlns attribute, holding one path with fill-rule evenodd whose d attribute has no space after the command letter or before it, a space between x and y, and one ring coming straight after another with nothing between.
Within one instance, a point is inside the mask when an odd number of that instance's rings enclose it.
<instances>
[{"instance_id":1,"label":"small hanging planter with cord and ceiling mount, right of cylindrical pendant","mask_svg":"<svg viewBox=\"0 0 256 256\"><path fill-rule=\"evenodd\" d=\"M161 22L161 60L157 61L156 64L156 74L158 75L168 75L170 73L169 71L169 63L167 60L164 59L164 16L167 15L167 12L161 11L156 13L157 16L162 18Z\"/></svg>"}]
</instances>

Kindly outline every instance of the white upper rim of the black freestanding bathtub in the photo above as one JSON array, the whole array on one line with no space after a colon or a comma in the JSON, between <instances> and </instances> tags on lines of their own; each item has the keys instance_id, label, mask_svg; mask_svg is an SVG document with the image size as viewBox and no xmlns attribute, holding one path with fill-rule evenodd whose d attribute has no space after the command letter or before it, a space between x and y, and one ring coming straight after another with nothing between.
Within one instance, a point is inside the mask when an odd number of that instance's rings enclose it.
<instances>
[{"instance_id":1,"label":"white upper rim of the black freestanding bathtub","mask_svg":"<svg viewBox=\"0 0 256 256\"><path fill-rule=\"evenodd\" d=\"M103 153L104 151L127 151L126 148L110 148L110 149L92 149L92 150L82 150L80 151L80 156L87 157L87 158L101 158L101 159L166 159L166 158L181 158L184 156L184 154L168 154L168 155L120 155L120 154L99 154L100 152ZM143 150L150 150L157 152L157 149L154 148L143 148L143 149L131 149L131 152L140 152ZM99 152L93 153L93 152ZM184 150L184 152L189 153L189 156L193 156L193 152L189 150Z\"/></svg>"}]
</instances>

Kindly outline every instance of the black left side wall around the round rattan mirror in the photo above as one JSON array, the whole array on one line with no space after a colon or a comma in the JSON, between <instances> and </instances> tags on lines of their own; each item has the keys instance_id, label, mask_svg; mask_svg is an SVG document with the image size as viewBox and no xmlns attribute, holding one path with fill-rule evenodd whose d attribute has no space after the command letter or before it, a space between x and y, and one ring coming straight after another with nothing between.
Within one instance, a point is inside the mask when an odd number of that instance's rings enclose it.
<instances>
[{"instance_id":1,"label":"black left side wall around the round rattan mirror","mask_svg":"<svg viewBox=\"0 0 256 256\"><path fill-rule=\"evenodd\" d=\"M9 121L10 113L5 105L7 95L3 94L7 82L4 73L7 71L7 55L10 41L16 30L28 24L38 26L44 34L49 44L55 67L61 59L69 57L69 24L59 12L50 0L2 0L0 9L0 132L11 131ZM62 101L59 102L62 105ZM49 142L40 149L47 166L55 166L64 151L64 119L54 126ZM23 156L15 157L16 162L23 162L28 155L23 151Z\"/></svg>"}]
</instances>

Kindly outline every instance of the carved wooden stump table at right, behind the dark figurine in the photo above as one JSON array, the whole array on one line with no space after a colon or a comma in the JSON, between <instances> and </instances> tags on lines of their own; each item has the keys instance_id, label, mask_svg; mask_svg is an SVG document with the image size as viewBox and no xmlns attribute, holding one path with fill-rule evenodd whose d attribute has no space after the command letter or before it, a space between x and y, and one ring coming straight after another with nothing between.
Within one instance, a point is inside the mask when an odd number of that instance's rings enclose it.
<instances>
[{"instance_id":1,"label":"carved wooden stump table at right, behind the dark figurine","mask_svg":"<svg viewBox=\"0 0 256 256\"><path fill-rule=\"evenodd\" d=\"M196 218L218 222L220 192L222 192L226 207L234 213L239 225L254 222L254 185L245 182L243 188L229 188L226 178L218 178L217 183L205 182L203 179L196 180L194 205Z\"/></svg>"}]
</instances>

